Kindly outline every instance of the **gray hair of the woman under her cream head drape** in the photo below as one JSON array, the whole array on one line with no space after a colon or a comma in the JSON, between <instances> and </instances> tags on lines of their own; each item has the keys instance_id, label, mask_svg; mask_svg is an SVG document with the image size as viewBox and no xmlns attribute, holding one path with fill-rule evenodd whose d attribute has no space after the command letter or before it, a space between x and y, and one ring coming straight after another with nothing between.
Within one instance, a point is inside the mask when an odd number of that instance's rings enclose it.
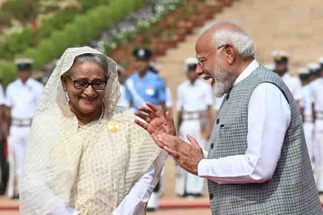
<instances>
[{"instance_id":1,"label":"gray hair of the woman under her cream head drape","mask_svg":"<svg viewBox=\"0 0 323 215\"><path fill-rule=\"evenodd\" d=\"M71 76L73 73L73 67L77 64L85 64L89 62L95 62L98 66L101 67L104 71L105 77L109 77L109 62L107 61L107 58L102 54L92 54L92 53L86 53L81 54L75 57L73 66L70 70L68 70L65 74L67 76Z\"/></svg>"}]
</instances>

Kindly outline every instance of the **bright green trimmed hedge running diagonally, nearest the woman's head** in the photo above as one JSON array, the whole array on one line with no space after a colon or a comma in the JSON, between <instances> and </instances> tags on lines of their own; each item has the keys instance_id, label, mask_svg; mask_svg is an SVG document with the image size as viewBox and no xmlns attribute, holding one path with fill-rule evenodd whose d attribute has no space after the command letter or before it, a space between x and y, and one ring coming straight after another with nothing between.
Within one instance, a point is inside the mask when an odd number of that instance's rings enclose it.
<instances>
[{"instance_id":1,"label":"bright green trimmed hedge running diagonally, nearest the woman's head","mask_svg":"<svg viewBox=\"0 0 323 215\"><path fill-rule=\"evenodd\" d=\"M41 40L38 46L27 48L16 57L32 58L35 61L34 68L40 69L52 59L60 57L66 48L85 45L96 39L101 32L122 21L144 3L145 0L111 0L109 6L99 6L89 10L85 15L75 17L73 22L62 30L53 32L49 38ZM5 83L8 83L14 75L15 65L4 60L0 61L0 76Z\"/></svg>"}]
</instances>

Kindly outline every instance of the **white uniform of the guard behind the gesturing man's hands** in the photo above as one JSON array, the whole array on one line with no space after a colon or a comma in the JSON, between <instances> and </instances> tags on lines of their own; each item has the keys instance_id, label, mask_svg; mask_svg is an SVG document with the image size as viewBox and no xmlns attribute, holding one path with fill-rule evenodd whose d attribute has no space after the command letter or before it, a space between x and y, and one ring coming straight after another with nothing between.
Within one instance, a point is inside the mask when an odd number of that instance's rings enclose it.
<instances>
[{"instance_id":1,"label":"white uniform of the guard behind the gesturing man's hands","mask_svg":"<svg viewBox=\"0 0 323 215\"><path fill-rule=\"evenodd\" d=\"M179 128L179 136L189 142L186 134L193 136L202 149L205 149L207 139L201 135L201 123L198 114L193 119L185 119L185 112L206 111L213 105L212 89L206 82L197 79L192 85L190 81L181 84L177 89L177 108L183 111L182 124ZM203 194L205 179L199 178L178 167L176 193L180 196L185 193Z\"/></svg>"}]
</instances>

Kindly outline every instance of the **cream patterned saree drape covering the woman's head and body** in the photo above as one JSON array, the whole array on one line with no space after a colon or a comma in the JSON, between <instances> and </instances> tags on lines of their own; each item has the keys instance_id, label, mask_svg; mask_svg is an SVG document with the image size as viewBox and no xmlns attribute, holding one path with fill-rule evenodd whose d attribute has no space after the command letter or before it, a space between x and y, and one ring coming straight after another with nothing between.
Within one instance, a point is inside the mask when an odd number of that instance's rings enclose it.
<instances>
[{"instance_id":1,"label":"cream patterned saree drape covering the woman's head and body","mask_svg":"<svg viewBox=\"0 0 323 215\"><path fill-rule=\"evenodd\" d=\"M133 112L116 106L117 64L110 58L104 117L85 129L78 126L60 77L85 53L102 54L89 47L67 49L41 96L25 155L23 215L46 214L66 205L81 214L111 214L150 165L154 184L164 166L165 153L134 123ZM111 123L117 131L109 129Z\"/></svg>"}]
</instances>

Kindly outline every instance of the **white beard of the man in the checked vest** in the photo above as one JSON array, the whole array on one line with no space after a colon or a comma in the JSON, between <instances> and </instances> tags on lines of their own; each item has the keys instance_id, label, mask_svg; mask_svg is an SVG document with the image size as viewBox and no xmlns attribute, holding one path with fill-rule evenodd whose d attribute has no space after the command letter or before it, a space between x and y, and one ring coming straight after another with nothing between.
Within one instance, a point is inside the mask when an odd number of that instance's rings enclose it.
<instances>
[{"instance_id":1,"label":"white beard of the man in the checked vest","mask_svg":"<svg viewBox=\"0 0 323 215\"><path fill-rule=\"evenodd\" d=\"M230 92L236 80L233 71L225 69L221 62L214 66L212 76L214 79L213 94L219 98Z\"/></svg>"}]
</instances>

